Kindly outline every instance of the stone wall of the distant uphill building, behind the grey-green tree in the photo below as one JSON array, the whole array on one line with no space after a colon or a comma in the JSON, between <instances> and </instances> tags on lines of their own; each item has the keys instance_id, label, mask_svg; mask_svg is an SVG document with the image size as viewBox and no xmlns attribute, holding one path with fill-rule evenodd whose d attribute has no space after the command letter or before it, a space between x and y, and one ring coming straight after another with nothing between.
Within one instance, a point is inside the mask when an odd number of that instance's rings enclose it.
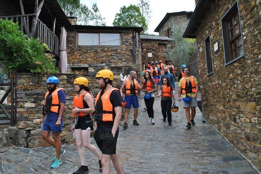
<instances>
[{"instance_id":1,"label":"stone wall of the distant uphill building, behind the grey-green tree","mask_svg":"<svg viewBox=\"0 0 261 174\"><path fill-rule=\"evenodd\" d=\"M160 36L167 36L167 30L173 25L180 26L180 24L188 24L190 16L188 14L171 15L159 29Z\"/></svg>"}]
</instances>

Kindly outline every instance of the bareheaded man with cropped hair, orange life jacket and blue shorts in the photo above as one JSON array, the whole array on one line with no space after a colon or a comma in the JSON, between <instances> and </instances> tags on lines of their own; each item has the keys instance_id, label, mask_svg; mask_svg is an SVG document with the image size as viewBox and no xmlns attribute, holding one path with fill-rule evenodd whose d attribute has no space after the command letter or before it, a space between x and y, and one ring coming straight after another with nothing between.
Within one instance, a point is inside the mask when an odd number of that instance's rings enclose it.
<instances>
[{"instance_id":1,"label":"bareheaded man with cropped hair, orange life jacket and blue shorts","mask_svg":"<svg viewBox=\"0 0 261 174\"><path fill-rule=\"evenodd\" d=\"M139 83L136 81L137 78L137 73L135 71L130 71L130 76L127 78L121 86L120 93L121 96L124 97L124 94L122 93L123 89L125 91L125 101L126 101L126 106L125 106L125 113L124 113L124 119L125 123L123 125L123 128L128 127L128 117L129 117L129 111L130 111L130 106L133 106L134 109L134 120L133 124L139 125L137 122L137 117L138 117L138 107L139 107L139 101L138 101L138 89L142 90L144 87L145 80L143 79L143 84L140 86Z\"/></svg>"}]
</instances>

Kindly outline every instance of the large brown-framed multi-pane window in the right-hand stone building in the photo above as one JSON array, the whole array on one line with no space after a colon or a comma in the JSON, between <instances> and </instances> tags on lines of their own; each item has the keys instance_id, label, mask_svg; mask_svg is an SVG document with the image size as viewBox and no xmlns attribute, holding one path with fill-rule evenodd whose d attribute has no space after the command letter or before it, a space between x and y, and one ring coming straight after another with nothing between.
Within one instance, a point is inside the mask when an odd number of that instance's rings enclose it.
<instances>
[{"instance_id":1,"label":"large brown-framed multi-pane window in the right-hand stone building","mask_svg":"<svg viewBox=\"0 0 261 174\"><path fill-rule=\"evenodd\" d=\"M237 1L221 20L225 65L244 56L243 38Z\"/></svg>"}]
</instances>

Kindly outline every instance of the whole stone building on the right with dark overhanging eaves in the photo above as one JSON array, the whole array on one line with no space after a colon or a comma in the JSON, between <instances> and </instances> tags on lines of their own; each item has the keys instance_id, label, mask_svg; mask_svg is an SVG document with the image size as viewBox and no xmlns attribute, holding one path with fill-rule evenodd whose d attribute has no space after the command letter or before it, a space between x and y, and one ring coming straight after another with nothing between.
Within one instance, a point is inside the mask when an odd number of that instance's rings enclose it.
<instances>
[{"instance_id":1,"label":"whole stone building on the right with dark overhanging eaves","mask_svg":"<svg viewBox=\"0 0 261 174\"><path fill-rule=\"evenodd\" d=\"M259 0L199 0L183 35L197 38L203 116L259 171L260 14Z\"/></svg>"}]
</instances>

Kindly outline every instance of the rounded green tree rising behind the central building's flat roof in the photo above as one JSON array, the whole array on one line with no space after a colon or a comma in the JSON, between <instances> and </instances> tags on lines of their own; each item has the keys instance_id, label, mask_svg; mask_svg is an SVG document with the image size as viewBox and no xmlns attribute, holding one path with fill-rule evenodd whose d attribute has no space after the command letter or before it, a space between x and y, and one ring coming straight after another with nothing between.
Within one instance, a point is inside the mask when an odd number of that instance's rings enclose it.
<instances>
[{"instance_id":1,"label":"rounded green tree rising behind the central building's flat roof","mask_svg":"<svg viewBox=\"0 0 261 174\"><path fill-rule=\"evenodd\" d=\"M146 19L135 5L121 7L120 13L115 15L113 26L143 27L143 32L148 29Z\"/></svg>"}]
</instances>

